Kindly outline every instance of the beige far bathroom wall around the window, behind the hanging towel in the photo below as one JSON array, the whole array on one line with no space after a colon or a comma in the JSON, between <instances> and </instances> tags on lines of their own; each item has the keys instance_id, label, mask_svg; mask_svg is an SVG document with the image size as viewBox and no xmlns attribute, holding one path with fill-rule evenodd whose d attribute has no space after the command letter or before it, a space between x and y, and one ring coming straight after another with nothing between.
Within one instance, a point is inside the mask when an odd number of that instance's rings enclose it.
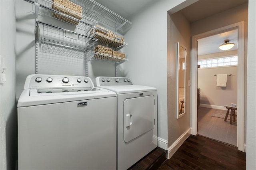
<instances>
[{"instance_id":1,"label":"beige far bathroom wall around the window, behind the hanging towel","mask_svg":"<svg viewBox=\"0 0 256 170\"><path fill-rule=\"evenodd\" d=\"M226 57L237 55L237 50L225 51L208 55L200 55L198 59ZM227 87L216 87L214 74L232 74L228 76ZM206 105L224 106L237 103L237 66L213 67L198 69L198 88L201 89L201 102Z\"/></svg>"}]
</instances>

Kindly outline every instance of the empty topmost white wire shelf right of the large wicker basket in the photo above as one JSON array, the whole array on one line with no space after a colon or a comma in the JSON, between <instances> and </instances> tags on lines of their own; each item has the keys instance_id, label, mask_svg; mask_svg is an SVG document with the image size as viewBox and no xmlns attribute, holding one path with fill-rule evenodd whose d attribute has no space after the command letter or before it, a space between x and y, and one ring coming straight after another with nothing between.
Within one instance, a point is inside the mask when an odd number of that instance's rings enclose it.
<instances>
[{"instance_id":1,"label":"empty topmost white wire shelf right of the large wicker basket","mask_svg":"<svg viewBox=\"0 0 256 170\"><path fill-rule=\"evenodd\" d=\"M114 28L114 30L126 32L130 29L132 22L126 20L122 16L112 12L108 8L102 6L94 0L71 0L72 2L82 6L84 14L90 18L94 18L98 22Z\"/></svg>"}]
</instances>

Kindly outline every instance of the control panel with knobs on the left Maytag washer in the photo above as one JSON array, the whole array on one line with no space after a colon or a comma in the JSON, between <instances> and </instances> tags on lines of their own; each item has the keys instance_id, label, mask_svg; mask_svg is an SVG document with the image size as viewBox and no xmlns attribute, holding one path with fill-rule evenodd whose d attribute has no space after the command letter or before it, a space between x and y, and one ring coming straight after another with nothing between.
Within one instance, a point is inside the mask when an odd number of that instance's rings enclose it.
<instances>
[{"instance_id":1,"label":"control panel with knobs on the left Maytag washer","mask_svg":"<svg viewBox=\"0 0 256 170\"><path fill-rule=\"evenodd\" d=\"M63 87L94 87L94 85L89 77L42 74L29 75L24 85L24 89Z\"/></svg>"}]
</instances>

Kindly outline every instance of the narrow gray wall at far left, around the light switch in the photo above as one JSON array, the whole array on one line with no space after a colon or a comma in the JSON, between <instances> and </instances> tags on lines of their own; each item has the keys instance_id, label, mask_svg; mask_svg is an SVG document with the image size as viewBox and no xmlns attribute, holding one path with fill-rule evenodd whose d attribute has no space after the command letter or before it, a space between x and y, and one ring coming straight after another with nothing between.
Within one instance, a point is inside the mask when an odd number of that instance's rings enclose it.
<instances>
[{"instance_id":1,"label":"narrow gray wall at far left, around the light switch","mask_svg":"<svg viewBox=\"0 0 256 170\"><path fill-rule=\"evenodd\" d=\"M15 169L17 160L15 1L0 0L0 55L6 83L0 84L0 169Z\"/></svg>"}]
</instances>

